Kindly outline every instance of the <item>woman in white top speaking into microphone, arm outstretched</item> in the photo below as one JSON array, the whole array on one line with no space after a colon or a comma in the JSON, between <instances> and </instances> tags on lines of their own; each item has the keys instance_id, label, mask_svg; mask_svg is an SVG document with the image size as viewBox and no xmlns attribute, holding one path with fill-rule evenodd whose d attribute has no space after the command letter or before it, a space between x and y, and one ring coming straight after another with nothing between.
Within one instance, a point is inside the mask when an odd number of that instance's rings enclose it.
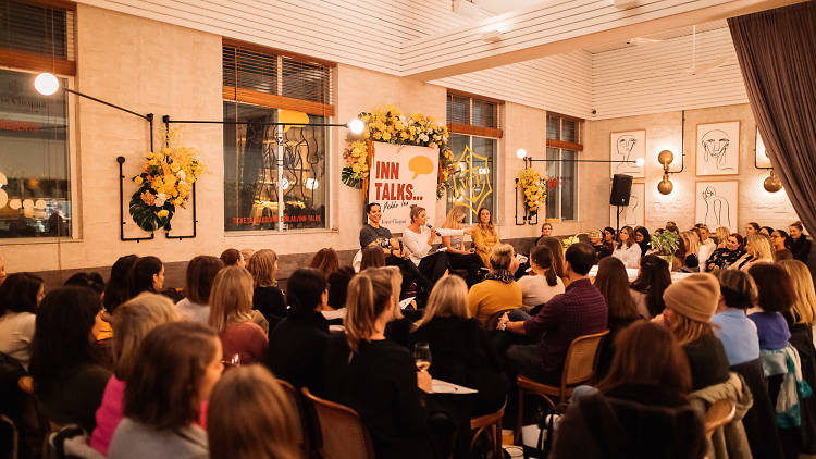
<instances>
[{"instance_id":1,"label":"woman in white top speaking into microphone, arm outstretched","mask_svg":"<svg viewBox=\"0 0 816 459\"><path fill-rule=\"evenodd\" d=\"M408 258L411 262L433 284L450 269L447 252L434 251L433 244L438 231L433 226L428 227L430 225L428 225L425 208L412 204L408 215L411 224L403 230L403 244L408 249ZM461 230L456 232L463 234Z\"/></svg>"}]
</instances>

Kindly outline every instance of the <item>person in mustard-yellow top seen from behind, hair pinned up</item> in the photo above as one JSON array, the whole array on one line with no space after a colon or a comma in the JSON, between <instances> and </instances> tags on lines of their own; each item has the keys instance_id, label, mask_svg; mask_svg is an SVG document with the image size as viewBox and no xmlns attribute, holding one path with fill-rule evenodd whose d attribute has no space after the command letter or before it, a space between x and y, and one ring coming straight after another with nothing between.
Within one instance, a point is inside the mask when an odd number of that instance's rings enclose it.
<instances>
[{"instance_id":1,"label":"person in mustard-yellow top seen from behind, hair pinned up","mask_svg":"<svg viewBox=\"0 0 816 459\"><path fill-rule=\"evenodd\" d=\"M521 308L521 287L514 276L515 253L509 244L493 247L490 258L490 271L484 281L474 285L468 293L470 315L477 318L482 326L495 314Z\"/></svg>"}]
</instances>

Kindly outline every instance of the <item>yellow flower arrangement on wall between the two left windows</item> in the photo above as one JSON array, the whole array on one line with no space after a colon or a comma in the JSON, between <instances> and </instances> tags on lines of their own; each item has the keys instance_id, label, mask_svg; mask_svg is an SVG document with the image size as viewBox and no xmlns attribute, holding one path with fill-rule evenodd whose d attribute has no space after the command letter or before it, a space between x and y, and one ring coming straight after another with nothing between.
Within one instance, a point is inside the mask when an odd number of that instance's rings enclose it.
<instances>
[{"instance_id":1,"label":"yellow flower arrangement on wall between the two left windows","mask_svg":"<svg viewBox=\"0 0 816 459\"><path fill-rule=\"evenodd\" d=\"M195 149L171 147L175 131L165 137L164 148L148 151L141 172L133 177L139 189L131 198L131 216L145 231L168 227L176 206L187 207L193 184L205 171Z\"/></svg>"}]
</instances>

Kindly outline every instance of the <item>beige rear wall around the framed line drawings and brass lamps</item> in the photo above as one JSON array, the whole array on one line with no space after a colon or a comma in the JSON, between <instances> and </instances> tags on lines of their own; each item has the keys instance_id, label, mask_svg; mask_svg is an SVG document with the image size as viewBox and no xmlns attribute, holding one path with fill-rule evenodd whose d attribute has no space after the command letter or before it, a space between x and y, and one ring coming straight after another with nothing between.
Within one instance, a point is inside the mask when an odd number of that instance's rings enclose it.
<instances>
[{"instance_id":1,"label":"beige rear wall around the framed line drawings and brass lamps","mask_svg":"<svg viewBox=\"0 0 816 459\"><path fill-rule=\"evenodd\" d=\"M614 132L646 131L646 177L635 178L634 183L645 183L646 188L646 226L650 230L663 227L667 220L677 222L680 228L688 228L694 222L694 187L697 181L731 181L739 185L738 225L732 231L745 232L747 222L756 221L761 225L784 227L798 220L784 190L768 193L763 188L763 181L768 172L754 168L754 139L756 123L747 104L717 107L710 109L689 110L685 112L685 136L681 140L681 112L668 112L653 115L628 116L613 120L592 121L588 136L589 150L603 153L609 158L610 135ZM740 121L740 164L739 174L722 176L695 175L695 144L697 124ZM663 166L657 162L657 153L669 149L675 153L671 171L681 165L682 151L685 152L683 172L670 174L675 189L669 195L660 195L657 184L663 178ZM608 201L609 176L598 175L598 193L606 194ZM608 206L605 219L608 221ZM613 222L614 225L614 222Z\"/></svg>"}]
</instances>

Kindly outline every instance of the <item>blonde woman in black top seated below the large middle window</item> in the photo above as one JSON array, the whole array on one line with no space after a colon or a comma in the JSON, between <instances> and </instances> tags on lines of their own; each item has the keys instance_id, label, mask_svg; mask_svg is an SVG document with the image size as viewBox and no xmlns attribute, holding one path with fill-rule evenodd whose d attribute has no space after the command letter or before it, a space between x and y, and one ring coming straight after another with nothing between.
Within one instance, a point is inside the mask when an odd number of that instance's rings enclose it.
<instances>
[{"instance_id":1,"label":"blonde woman in black top seated below the large middle window","mask_svg":"<svg viewBox=\"0 0 816 459\"><path fill-rule=\"evenodd\" d=\"M267 321L273 325L286 317L286 299L277 288L277 253L272 249L261 249L252 255L247 264L252 274L252 308L261 311Z\"/></svg>"}]
</instances>

